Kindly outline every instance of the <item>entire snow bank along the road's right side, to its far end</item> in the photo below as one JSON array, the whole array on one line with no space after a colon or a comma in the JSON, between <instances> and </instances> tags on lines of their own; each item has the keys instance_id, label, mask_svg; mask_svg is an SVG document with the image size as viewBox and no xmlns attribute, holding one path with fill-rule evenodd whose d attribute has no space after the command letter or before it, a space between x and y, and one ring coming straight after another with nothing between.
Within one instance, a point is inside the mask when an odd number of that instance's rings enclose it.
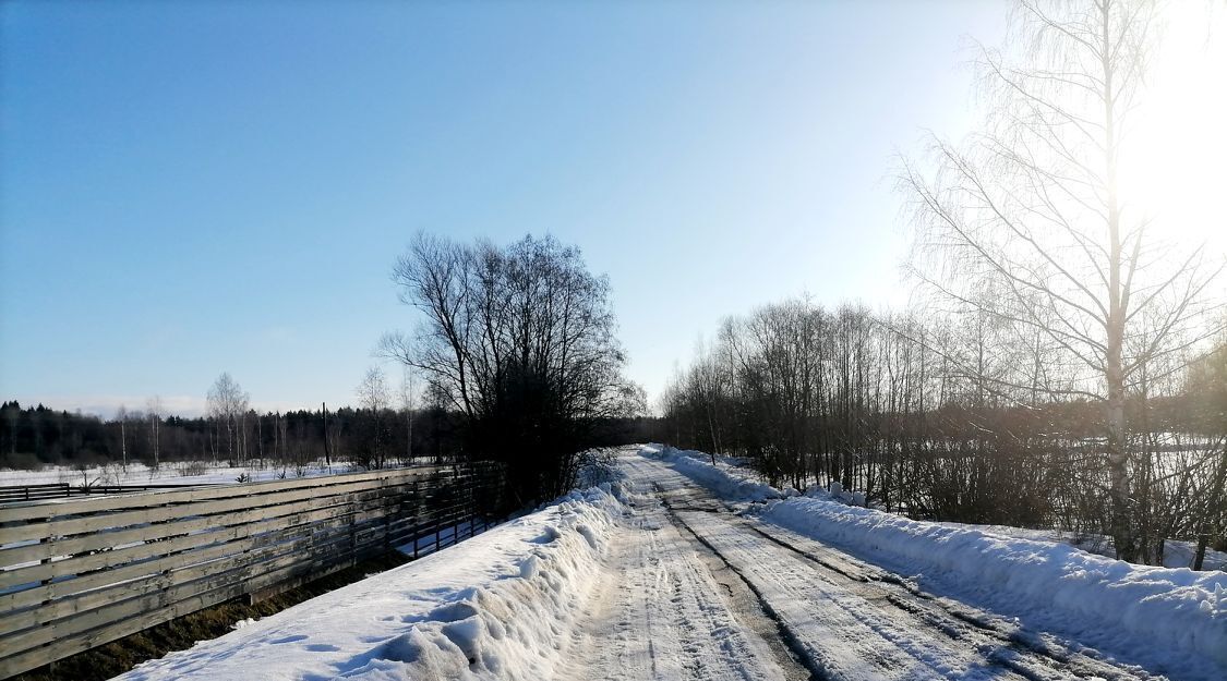
<instances>
[{"instance_id":1,"label":"entire snow bank along the road's right side, to its far end","mask_svg":"<svg viewBox=\"0 0 1227 681\"><path fill-rule=\"evenodd\" d=\"M913 574L930 590L967 596L1085 643L1193 669L1199 677L1222 677L1227 669L1223 572L1130 565L1044 540L1037 530L910 521L859 507L863 495L838 486L811 486L798 496L755 481L746 469L713 467L701 452L649 445L640 453L725 499L771 500L750 512Z\"/></svg>"}]
</instances>

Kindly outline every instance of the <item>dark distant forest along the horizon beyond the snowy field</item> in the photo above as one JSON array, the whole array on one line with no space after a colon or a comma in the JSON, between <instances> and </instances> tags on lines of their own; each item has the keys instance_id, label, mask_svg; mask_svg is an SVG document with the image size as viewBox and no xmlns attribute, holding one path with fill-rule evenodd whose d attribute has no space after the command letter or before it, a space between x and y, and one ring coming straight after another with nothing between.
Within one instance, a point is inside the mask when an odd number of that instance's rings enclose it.
<instances>
[{"instance_id":1,"label":"dark distant forest along the horizon beyond the snowy field","mask_svg":"<svg viewBox=\"0 0 1227 681\"><path fill-rule=\"evenodd\" d=\"M150 467L182 461L294 465L329 459L378 468L410 458L464 457L461 420L460 414L442 408L385 409L378 419L368 409L352 407L329 409L326 415L323 409L264 414L249 410L236 419L231 447L225 419L151 418L144 412L129 412L123 419L104 420L42 404L22 407L13 401L0 405L0 468L93 465L125 459ZM650 438L654 426L652 419L606 419L595 429L593 445L643 441Z\"/></svg>"}]
</instances>

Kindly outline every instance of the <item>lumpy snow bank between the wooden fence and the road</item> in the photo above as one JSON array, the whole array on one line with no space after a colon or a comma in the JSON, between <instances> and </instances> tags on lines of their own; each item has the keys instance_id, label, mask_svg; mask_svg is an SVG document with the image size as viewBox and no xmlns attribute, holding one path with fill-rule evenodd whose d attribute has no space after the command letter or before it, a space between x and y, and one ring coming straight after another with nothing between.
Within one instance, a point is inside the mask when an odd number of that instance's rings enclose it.
<instances>
[{"instance_id":1,"label":"lumpy snow bank between the wooden fence and the road","mask_svg":"<svg viewBox=\"0 0 1227 681\"><path fill-rule=\"evenodd\" d=\"M572 492L119 679L548 679L628 512L611 490Z\"/></svg>"}]
</instances>

